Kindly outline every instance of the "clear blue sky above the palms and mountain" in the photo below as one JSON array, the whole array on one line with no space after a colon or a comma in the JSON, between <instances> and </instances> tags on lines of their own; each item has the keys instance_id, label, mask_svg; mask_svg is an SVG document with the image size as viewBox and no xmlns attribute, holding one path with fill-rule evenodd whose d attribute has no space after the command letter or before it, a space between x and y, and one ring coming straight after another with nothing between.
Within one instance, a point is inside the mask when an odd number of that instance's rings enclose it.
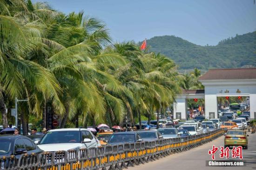
<instances>
[{"instance_id":1,"label":"clear blue sky above the palms and mountain","mask_svg":"<svg viewBox=\"0 0 256 170\"><path fill-rule=\"evenodd\" d=\"M254 0L32 0L103 20L114 41L175 35L197 45L256 31Z\"/></svg>"}]
</instances>

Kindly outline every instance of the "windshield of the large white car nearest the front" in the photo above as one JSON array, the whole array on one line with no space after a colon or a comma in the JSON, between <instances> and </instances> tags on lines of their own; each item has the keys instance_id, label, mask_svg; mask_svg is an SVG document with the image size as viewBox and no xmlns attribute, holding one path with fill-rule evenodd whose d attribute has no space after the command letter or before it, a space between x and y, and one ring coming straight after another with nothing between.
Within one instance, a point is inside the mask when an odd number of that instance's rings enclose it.
<instances>
[{"instance_id":1,"label":"windshield of the large white car nearest the front","mask_svg":"<svg viewBox=\"0 0 256 170\"><path fill-rule=\"evenodd\" d=\"M40 144L81 143L79 131L49 131Z\"/></svg>"}]
</instances>

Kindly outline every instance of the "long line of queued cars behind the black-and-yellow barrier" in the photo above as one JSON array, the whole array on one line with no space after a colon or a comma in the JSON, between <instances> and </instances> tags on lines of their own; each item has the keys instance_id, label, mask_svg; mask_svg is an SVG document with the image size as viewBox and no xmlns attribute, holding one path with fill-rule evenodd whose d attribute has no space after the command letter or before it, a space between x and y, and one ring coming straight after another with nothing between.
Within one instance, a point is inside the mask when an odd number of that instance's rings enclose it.
<instances>
[{"instance_id":1,"label":"long line of queued cars behind the black-and-yellow barrier","mask_svg":"<svg viewBox=\"0 0 256 170\"><path fill-rule=\"evenodd\" d=\"M0 156L17 155L23 153L40 153L42 151L74 150L80 148L99 147L106 144L119 144L129 142L152 141L160 138L186 137L214 131L218 128L238 128L247 126L247 116L240 115L232 121L222 122L220 119L203 121L204 117L194 120L173 124L170 120L162 121L162 127L153 130L128 131L128 132L105 132L99 133L96 137L91 131L83 128L55 129L50 130L44 136L30 135L0 136ZM154 125L154 121L151 121ZM145 122L147 124L147 122ZM167 126L170 124L171 126ZM153 126L152 125L152 126ZM30 138L29 138L30 137ZM3 144L5 143L5 144Z\"/></svg>"}]
</instances>

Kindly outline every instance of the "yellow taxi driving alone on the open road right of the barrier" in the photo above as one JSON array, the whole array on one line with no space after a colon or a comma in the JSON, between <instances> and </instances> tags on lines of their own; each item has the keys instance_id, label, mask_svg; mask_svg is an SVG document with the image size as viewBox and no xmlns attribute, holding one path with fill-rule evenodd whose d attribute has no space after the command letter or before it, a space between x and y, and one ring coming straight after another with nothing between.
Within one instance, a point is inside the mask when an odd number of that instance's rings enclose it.
<instances>
[{"instance_id":1,"label":"yellow taxi driving alone on the open road right of the barrier","mask_svg":"<svg viewBox=\"0 0 256 170\"><path fill-rule=\"evenodd\" d=\"M248 147L248 137L243 130L228 130L225 135L225 148L229 146L243 146L244 149Z\"/></svg>"}]
</instances>

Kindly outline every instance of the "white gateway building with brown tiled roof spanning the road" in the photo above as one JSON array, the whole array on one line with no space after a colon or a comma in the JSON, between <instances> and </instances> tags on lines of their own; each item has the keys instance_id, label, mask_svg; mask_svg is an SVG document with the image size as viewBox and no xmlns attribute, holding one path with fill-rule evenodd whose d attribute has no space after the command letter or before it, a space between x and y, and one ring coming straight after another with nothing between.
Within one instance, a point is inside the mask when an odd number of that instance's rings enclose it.
<instances>
[{"instance_id":1,"label":"white gateway building with brown tiled roof spanning the road","mask_svg":"<svg viewBox=\"0 0 256 170\"><path fill-rule=\"evenodd\" d=\"M211 69L199 78L203 90L183 90L174 103L174 118L187 118L187 99L204 98L206 118L217 118L217 97L248 96L256 119L256 68Z\"/></svg>"}]
</instances>

